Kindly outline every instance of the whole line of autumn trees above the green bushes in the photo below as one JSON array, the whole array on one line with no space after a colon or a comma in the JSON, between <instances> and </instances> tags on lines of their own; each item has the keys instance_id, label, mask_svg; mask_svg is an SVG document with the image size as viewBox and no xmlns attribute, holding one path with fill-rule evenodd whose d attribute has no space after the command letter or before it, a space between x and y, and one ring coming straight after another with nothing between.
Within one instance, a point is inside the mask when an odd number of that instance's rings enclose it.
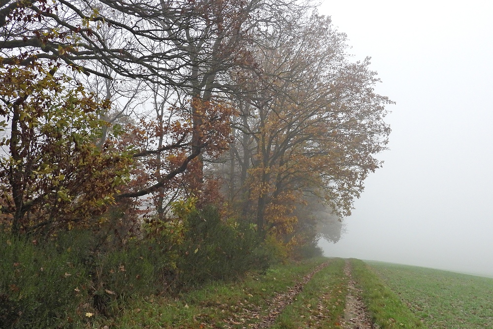
<instances>
[{"instance_id":1,"label":"whole line of autumn trees above the green bushes","mask_svg":"<svg viewBox=\"0 0 493 329\"><path fill-rule=\"evenodd\" d=\"M391 102L310 3L3 0L0 33L14 235L125 244L213 207L288 255L337 241L381 166Z\"/></svg>"}]
</instances>

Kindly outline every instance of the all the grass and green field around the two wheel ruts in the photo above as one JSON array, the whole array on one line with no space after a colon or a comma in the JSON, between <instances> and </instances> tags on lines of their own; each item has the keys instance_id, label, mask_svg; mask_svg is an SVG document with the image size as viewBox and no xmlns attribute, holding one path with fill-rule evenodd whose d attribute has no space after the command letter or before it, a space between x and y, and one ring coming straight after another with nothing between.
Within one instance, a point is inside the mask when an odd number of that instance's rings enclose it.
<instances>
[{"instance_id":1,"label":"all the grass and green field around the two wheel ruts","mask_svg":"<svg viewBox=\"0 0 493 329\"><path fill-rule=\"evenodd\" d=\"M270 309L323 262L292 302ZM269 315L272 329L338 329L344 319L345 260L315 258L275 266L243 282L213 282L176 297L132 298L111 319L84 328L250 328ZM352 277L378 329L493 328L493 279L427 268L350 260ZM284 307L285 306L285 307Z\"/></svg>"}]
</instances>

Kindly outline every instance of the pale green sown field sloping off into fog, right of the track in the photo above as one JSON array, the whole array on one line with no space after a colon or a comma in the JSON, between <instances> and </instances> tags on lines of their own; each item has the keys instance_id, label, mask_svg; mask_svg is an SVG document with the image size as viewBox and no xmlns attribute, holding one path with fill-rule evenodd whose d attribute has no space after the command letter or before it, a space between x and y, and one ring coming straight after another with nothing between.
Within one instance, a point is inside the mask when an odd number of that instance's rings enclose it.
<instances>
[{"instance_id":1,"label":"pale green sown field sloping off into fog, right of the track","mask_svg":"<svg viewBox=\"0 0 493 329\"><path fill-rule=\"evenodd\" d=\"M493 279L370 263L429 328L493 328Z\"/></svg>"}]
</instances>

